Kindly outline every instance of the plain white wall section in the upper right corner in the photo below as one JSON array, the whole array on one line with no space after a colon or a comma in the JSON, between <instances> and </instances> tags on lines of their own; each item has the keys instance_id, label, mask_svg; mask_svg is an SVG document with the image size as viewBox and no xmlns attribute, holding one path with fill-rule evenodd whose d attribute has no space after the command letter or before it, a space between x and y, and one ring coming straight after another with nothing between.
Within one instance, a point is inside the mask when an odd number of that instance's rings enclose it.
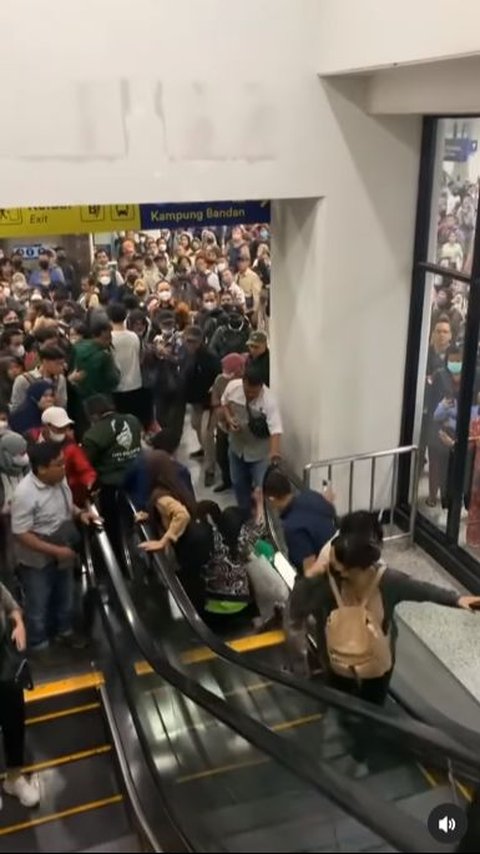
<instances>
[{"instance_id":1,"label":"plain white wall section in the upper right corner","mask_svg":"<svg viewBox=\"0 0 480 854\"><path fill-rule=\"evenodd\" d=\"M480 53L480 4L319 0L318 70L338 74Z\"/></svg>"}]
</instances>

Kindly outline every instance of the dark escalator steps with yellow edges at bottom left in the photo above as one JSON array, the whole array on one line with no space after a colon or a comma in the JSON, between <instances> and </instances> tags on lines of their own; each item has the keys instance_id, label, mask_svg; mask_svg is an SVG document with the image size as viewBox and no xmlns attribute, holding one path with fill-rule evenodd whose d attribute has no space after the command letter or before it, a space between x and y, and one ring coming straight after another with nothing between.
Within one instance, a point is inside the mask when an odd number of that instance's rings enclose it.
<instances>
[{"instance_id":1,"label":"dark escalator steps with yellow edges at bottom left","mask_svg":"<svg viewBox=\"0 0 480 854\"><path fill-rule=\"evenodd\" d=\"M0 851L139 851L114 764L96 672L27 695L27 773L40 806L4 796ZM74 847L72 847L72 845Z\"/></svg>"}]
</instances>

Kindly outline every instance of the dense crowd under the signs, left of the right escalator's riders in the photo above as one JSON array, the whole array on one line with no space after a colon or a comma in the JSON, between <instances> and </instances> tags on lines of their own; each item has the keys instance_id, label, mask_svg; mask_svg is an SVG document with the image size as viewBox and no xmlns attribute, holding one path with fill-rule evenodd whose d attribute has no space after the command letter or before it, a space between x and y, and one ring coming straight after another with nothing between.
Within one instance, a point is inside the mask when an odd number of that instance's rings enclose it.
<instances>
[{"instance_id":1,"label":"dense crowd under the signs, left of the right escalator's riders","mask_svg":"<svg viewBox=\"0 0 480 854\"><path fill-rule=\"evenodd\" d=\"M199 607L208 595L213 608L243 608L239 537L281 420L268 388L268 226L130 232L83 272L61 248L33 265L1 255L0 725L4 790L32 806L22 686L4 662L15 664L12 644L43 665L86 644L74 579L92 497L116 546L116 493L131 487L162 527L146 549L175 546ZM216 490L238 498L230 520L201 507L174 458L187 408L205 484L218 471Z\"/></svg>"}]
</instances>

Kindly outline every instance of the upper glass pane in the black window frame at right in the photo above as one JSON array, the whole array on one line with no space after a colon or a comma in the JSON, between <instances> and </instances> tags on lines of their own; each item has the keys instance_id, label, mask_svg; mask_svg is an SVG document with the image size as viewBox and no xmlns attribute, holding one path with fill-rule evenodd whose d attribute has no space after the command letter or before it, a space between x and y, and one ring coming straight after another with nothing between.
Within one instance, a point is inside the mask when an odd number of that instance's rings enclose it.
<instances>
[{"instance_id":1,"label":"upper glass pane in the black window frame at right","mask_svg":"<svg viewBox=\"0 0 480 854\"><path fill-rule=\"evenodd\" d=\"M480 179L480 118L438 121L428 260L470 273Z\"/></svg>"}]
</instances>

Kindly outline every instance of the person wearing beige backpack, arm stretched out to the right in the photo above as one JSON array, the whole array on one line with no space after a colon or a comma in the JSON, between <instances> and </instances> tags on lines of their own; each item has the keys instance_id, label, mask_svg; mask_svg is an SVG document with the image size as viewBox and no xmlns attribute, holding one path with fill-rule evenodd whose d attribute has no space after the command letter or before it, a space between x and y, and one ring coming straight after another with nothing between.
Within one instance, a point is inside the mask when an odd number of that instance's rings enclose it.
<instances>
[{"instance_id":1,"label":"person wearing beige backpack, arm stretched out to the right","mask_svg":"<svg viewBox=\"0 0 480 854\"><path fill-rule=\"evenodd\" d=\"M297 579L290 606L294 619L316 619L328 683L377 705L385 702L395 663L394 611L400 602L480 608L478 596L458 596L388 568L382 541L375 516L349 513L310 577Z\"/></svg>"}]
</instances>

